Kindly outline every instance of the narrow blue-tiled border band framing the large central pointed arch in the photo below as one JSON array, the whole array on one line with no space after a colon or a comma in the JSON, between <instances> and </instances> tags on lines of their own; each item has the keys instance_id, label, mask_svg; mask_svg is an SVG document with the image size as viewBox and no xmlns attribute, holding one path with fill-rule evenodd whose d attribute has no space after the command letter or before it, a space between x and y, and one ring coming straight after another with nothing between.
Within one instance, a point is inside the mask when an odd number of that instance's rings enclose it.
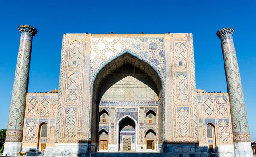
<instances>
[{"instance_id":1,"label":"narrow blue-tiled border band framing the large central pointed arch","mask_svg":"<svg viewBox=\"0 0 256 157\"><path fill-rule=\"evenodd\" d=\"M114 59L117 59L118 57L124 55L124 54L130 54L131 56L134 56L135 58L137 59L140 59L140 61L143 61L145 62L146 64L148 64L156 73L157 73L157 76L158 78L160 79L160 83L161 83L161 97L162 97L162 115L163 115L163 118L162 118L162 137L163 137L163 143L165 142L165 128L166 128L166 125L165 125L165 75L164 73L159 70L159 68L154 64L152 63L151 61L149 61L148 59L146 59L145 57L141 56L139 53L136 53L136 52L133 52L131 51L130 49L124 49L122 51L120 51L120 53L116 53L115 55L111 56L108 61L106 62L103 62L102 64L100 64L96 70L93 71L93 73L90 73L90 101L89 101L89 121L92 120L92 103L93 103L93 85L94 85L94 81L96 80L96 77L97 75L99 74L99 72L106 66L108 65L109 63L111 63ZM89 123L89 126L88 126L88 139L91 140L91 130L92 130L92 123Z\"/></svg>"}]
</instances>

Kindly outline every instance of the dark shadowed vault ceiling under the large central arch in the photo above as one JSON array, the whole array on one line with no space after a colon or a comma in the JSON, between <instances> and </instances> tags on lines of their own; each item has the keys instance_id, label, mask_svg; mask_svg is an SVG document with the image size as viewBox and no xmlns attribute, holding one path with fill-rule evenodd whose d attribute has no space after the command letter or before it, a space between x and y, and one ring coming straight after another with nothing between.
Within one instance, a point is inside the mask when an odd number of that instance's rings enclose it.
<instances>
[{"instance_id":1,"label":"dark shadowed vault ceiling under the large central arch","mask_svg":"<svg viewBox=\"0 0 256 157\"><path fill-rule=\"evenodd\" d=\"M162 85L155 70L142 60L129 53L125 53L100 70L93 84L93 99L96 101L101 100L104 93L100 93L99 90L106 79L116 77L116 81L113 82L113 84L115 84L117 81L127 76L133 76L143 83L150 85L149 87L151 87L158 96L160 95ZM147 78L151 80L154 84L153 86L146 81Z\"/></svg>"}]
</instances>

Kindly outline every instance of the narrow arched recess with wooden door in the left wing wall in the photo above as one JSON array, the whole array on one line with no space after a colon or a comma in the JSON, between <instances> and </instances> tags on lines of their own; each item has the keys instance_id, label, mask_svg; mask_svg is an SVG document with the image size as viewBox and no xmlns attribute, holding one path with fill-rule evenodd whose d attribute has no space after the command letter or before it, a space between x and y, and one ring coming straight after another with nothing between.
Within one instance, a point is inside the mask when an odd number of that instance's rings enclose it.
<instances>
[{"instance_id":1,"label":"narrow arched recess with wooden door in the left wing wall","mask_svg":"<svg viewBox=\"0 0 256 157\"><path fill-rule=\"evenodd\" d=\"M48 133L48 125L46 122L42 122L39 124L38 130L38 148L40 147L41 150L46 148L47 143L47 133Z\"/></svg>"}]
</instances>

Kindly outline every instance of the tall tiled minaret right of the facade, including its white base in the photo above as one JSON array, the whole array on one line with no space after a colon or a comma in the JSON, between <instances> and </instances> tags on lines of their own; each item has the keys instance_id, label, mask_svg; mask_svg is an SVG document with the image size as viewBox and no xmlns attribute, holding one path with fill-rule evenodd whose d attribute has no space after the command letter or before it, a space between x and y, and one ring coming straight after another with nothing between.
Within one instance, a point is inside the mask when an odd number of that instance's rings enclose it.
<instances>
[{"instance_id":1,"label":"tall tiled minaret right of the facade, including its white base","mask_svg":"<svg viewBox=\"0 0 256 157\"><path fill-rule=\"evenodd\" d=\"M236 157L253 157L244 93L233 42L233 28L223 28L217 32L225 65L227 91L229 94L233 140Z\"/></svg>"}]
</instances>

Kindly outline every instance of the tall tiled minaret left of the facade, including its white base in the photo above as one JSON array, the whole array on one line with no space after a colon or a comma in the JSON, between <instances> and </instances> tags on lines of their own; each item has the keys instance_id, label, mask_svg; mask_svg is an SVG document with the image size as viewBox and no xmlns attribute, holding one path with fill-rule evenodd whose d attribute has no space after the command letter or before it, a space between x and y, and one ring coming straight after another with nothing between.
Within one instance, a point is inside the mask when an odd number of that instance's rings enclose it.
<instances>
[{"instance_id":1,"label":"tall tiled minaret left of the facade, including its white base","mask_svg":"<svg viewBox=\"0 0 256 157\"><path fill-rule=\"evenodd\" d=\"M37 33L37 30L30 25L20 25L18 29L21 34L20 47L3 155L18 155L21 151L32 39Z\"/></svg>"}]
</instances>

